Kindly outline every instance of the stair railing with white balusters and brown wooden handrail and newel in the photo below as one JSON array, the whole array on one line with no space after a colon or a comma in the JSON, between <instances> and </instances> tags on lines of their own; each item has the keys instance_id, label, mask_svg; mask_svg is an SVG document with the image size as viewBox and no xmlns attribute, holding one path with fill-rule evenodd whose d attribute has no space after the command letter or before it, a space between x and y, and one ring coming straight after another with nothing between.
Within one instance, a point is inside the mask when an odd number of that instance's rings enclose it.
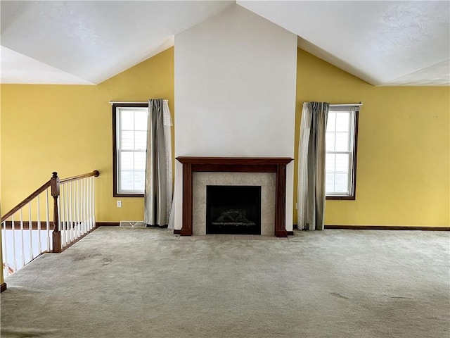
<instances>
[{"instance_id":1,"label":"stair railing with white balusters and brown wooden handrail and newel","mask_svg":"<svg viewBox=\"0 0 450 338\"><path fill-rule=\"evenodd\" d=\"M4 277L41 253L63 251L95 229L94 177L98 175L94 170L60 180L55 172L1 217ZM53 222L49 213L51 199Z\"/></svg>"}]
</instances>

